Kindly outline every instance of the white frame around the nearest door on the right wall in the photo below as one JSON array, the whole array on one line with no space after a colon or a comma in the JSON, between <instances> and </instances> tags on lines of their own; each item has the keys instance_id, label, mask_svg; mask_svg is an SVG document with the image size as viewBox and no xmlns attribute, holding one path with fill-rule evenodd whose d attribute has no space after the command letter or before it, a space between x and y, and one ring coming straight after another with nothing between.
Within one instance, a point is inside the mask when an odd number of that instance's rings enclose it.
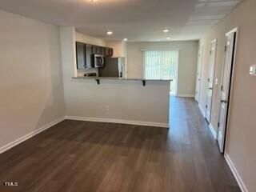
<instances>
[{"instance_id":1,"label":"white frame around the nearest door on the right wall","mask_svg":"<svg viewBox=\"0 0 256 192\"><path fill-rule=\"evenodd\" d=\"M225 34L225 38L231 34L231 33L236 33L235 35L235 38L234 38L234 41L235 41L235 44L234 44L234 55L233 55L233 63L232 63L232 70L230 71L231 72L231 78L230 78L230 90L229 90L229 101L228 101L228 106L227 106L227 111L226 111L226 130L225 130L225 134L224 134L224 146L223 146L223 154L225 154L225 150L226 150L226 141L227 141L227 132L228 130L230 129L230 106L231 106L231 103L232 103L232 98L233 98L233 91L234 91L234 68L235 68L235 63L236 63L236 55L237 55L237 46L238 46L238 26L235 27L233 30L230 30L228 31L226 34ZM226 40L225 40L226 41ZM225 42L225 45L226 45L226 42ZM222 65L222 78L221 78L221 85L222 85L222 82L223 82L223 70L224 70L224 62L225 62L225 52L224 52L224 57L223 57L223 65ZM221 90L219 92L219 108L218 108L218 122L220 120L220 101L222 99L222 94L221 94ZM218 127L218 130L219 130L219 127ZM218 131L217 131L217 139L218 139Z\"/></svg>"}]
</instances>

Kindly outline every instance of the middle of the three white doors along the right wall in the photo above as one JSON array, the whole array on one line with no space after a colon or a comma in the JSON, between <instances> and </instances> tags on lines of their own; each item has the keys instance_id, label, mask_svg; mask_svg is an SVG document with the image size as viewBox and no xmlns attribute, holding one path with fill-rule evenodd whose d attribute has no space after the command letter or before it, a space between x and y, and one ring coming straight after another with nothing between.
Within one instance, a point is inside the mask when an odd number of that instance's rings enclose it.
<instances>
[{"instance_id":1,"label":"middle of the three white doors along the right wall","mask_svg":"<svg viewBox=\"0 0 256 192\"><path fill-rule=\"evenodd\" d=\"M214 66L216 60L216 49L217 49L217 40L211 42L210 44L210 65L208 72L208 86L207 86L207 100L206 100L206 120L210 123L211 117L211 106L214 93Z\"/></svg>"}]
</instances>

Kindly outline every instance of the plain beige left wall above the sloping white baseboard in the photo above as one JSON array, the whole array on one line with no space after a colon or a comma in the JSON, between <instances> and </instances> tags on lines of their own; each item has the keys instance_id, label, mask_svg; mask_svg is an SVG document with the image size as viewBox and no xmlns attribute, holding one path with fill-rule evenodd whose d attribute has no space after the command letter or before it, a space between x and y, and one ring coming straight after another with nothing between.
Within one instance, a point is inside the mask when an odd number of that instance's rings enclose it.
<instances>
[{"instance_id":1,"label":"plain beige left wall above the sloping white baseboard","mask_svg":"<svg viewBox=\"0 0 256 192\"><path fill-rule=\"evenodd\" d=\"M0 10L0 150L64 116L59 29Z\"/></svg>"}]
</instances>

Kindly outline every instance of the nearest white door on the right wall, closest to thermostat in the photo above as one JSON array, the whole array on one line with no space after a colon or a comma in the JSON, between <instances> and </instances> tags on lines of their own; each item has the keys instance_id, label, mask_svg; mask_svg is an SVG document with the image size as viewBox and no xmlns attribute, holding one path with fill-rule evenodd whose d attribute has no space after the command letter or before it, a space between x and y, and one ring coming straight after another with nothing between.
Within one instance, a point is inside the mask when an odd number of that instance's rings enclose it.
<instances>
[{"instance_id":1,"label":"nearest white door on the right wall, closest to thermostat","mask_svg":"<svg viewBox=\"0 0 256 192\"><path fill-rule=\"evenodd\" d=\"M222 70L222 89L218 123L218 146L222 153L224 152L226 123L230 103L230 82L234 63L235 36L236 32L226 34L225 61Z\"/></svg>"}]
</instances>

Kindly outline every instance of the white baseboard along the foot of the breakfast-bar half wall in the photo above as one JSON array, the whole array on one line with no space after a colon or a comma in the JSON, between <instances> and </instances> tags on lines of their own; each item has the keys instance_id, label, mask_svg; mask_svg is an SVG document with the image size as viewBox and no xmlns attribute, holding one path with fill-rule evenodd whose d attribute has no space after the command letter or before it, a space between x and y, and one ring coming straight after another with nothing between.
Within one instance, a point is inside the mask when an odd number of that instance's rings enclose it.
<instances>
[{"instance_id":1,"label":"white baseboard along the foot of the breakfast-bar half wall","mask_svg":"<svg viewBox=\"0 0 256 192\"><path fill-rule=\"evenodd\" d=\"M78 121L87 121L87 122L113 122L113 123L122 123L130 124L137 126L157 126L169 128L169 125L161 122L140 122L140 121L130 121L123 119L114 119L114 118L86 118L86 117L76 117L76 116L66 116L66 119L78 120Z\"/></svg>"}]
</instances>

